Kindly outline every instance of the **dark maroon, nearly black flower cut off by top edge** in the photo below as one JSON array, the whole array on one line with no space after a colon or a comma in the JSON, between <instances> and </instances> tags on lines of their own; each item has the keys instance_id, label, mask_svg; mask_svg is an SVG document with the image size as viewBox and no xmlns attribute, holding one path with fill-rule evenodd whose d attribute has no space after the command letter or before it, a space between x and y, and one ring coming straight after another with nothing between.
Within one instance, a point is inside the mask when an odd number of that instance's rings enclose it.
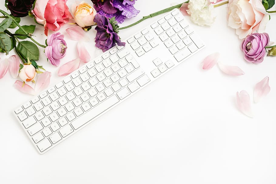
<instances>
[{"instance_id":1,"label":"dark maroon, nearly black flower cut off by top edge","mask_svg":"<svg viewBox=\"0 0 276 184\"><path fill-rule=\"evenodd\" d=\"M8 0L8 9L15 17L25 17L35 0Z\"/></svg>"}]
</instances>

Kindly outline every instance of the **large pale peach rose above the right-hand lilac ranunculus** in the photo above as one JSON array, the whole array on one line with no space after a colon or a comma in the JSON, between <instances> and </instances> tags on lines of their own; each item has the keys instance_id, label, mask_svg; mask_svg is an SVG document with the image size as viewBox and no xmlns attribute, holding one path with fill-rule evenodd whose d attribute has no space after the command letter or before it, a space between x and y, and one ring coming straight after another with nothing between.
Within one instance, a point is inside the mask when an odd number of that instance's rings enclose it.
<instances>
[{"instance_id":1,"label":"large pale peach rose above the right-hand lilac ranunculus","mask_svg":"<svg viewBox=\"0 0 276 184\"><path fill-rule=\"evenodd\" d=\"M240 39L264 32L269 20L261 0L229 0L227 12L228 26L236 29Z\"/></svg>"}]
</instances>

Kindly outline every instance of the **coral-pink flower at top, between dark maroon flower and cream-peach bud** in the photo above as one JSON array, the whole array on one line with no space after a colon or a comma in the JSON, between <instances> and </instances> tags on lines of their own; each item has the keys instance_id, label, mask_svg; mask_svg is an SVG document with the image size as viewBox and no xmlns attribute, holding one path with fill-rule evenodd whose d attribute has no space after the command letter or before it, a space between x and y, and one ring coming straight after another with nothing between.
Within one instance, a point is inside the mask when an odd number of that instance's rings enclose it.
<instances>
[{"instance_id":1,"label":"coral-pink flower at top, between dark maroon flower and cream-peach bud","mask_svg":"<svg viewBox=\"0 0 276 184\"><path fill-rule=\"evenodd\" d=\"M66 5L67 0L36 0L32 13L35 20L44 25L44 34L48 36L49 29L58 31L60 26L73 18Z\"/></svg>"}]
</instances>

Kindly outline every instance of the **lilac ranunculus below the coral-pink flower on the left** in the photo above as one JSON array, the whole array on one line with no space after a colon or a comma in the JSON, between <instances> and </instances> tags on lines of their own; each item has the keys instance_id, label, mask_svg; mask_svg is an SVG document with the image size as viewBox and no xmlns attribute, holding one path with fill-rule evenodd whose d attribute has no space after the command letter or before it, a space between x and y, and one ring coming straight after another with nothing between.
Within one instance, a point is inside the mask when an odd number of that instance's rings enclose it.
<instances>
[{"instance_id":1,"label":"lilac ranunculus below the coral-pink flower on the left","mask_svg":"<svg viewBox=\"0 0 276 184\"><path fill-rule=\"evenodd\" d=\"M66 49L67 46L64 40L64 35L57 32L48 37L45 55L50 60L52 65L59 66L60 59L65 56Z\"/></svg>"}]
</instances>

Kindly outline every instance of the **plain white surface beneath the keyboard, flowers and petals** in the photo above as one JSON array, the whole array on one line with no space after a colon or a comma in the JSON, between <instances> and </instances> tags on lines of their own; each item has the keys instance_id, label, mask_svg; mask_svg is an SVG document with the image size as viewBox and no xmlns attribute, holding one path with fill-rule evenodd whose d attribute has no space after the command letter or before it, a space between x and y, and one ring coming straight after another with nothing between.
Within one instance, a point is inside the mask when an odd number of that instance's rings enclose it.
<instances>
[{"instance_id":1,"label":"plain white surface beneath the keyboard, flowers and petals","mask_svg":"<svg viewBox=\"0 0 276 184\"><path fill-rule=\"evenodd\" d=\"M138 0L135 7L140 14L123 25L171 3ZM215 9L217 19L211 27L192 24L207 44L202 52L44 155L38 154L12 115L32 96L14 89L15 79L7 73L0 80L0 183L275 183L276 58L266 57L259 65L243 59L241 40L227 27L226 6ZM119 36L126 39L161 16L122 30ZM267 26L272 41L276 41L275 20L271 15ZM34 24L28 17L22 18L23 23ZM62 64L77 57L77 42L66 34L67 27L60 30L68 43ZM37 25L35 39L44 43L42 34L43 27ZM85 45L93 58L95 30L87 35L91 40ZM47 63L40 51L39 64L52 72L50 85L54 85L62 79L56 75L58 68ZM213 52L221 54L220 61L238 65L245 75L228 76L217 66L203 71L200 62ZM7 58L2 53L0 57ZM271 92L254 104L254 85L267 75ZM237 110L235 95L241 90L251 96L253 119Z\"/></svg>"}]
</instances>

